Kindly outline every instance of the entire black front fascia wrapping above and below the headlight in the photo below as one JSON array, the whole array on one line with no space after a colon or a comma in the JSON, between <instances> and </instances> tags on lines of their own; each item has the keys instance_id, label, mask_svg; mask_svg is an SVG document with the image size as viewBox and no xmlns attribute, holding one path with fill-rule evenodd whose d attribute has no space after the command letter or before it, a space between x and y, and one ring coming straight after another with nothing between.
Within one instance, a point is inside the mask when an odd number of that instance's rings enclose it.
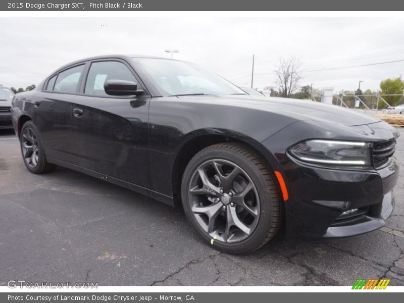
<instances>
[{"instance_id":1,"label":"entire black front fascia wrapping above and below the headlight","mask_svg":"<svg viewBox=\"0 0 404 303\"><path fill-rule=\"evenodd\" d=\"M297 122L258 145L271 167L282 174L288 190L286 235L344 237L382 227L394 207L399 174L394 157L380 169L331 169L298 162L288 156L288 146L311 138L384 141L393 135L394 129L384 122L355 127Z\"/></svg>"}]
</instances>

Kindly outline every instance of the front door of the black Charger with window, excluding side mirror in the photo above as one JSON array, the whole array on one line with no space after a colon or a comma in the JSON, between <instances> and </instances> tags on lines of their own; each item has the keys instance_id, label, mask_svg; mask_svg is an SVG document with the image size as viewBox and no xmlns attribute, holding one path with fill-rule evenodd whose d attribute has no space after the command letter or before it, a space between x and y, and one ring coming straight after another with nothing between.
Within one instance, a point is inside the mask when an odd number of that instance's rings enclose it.
<instances>
[{"instance_id":1,"label":"front door of the black Charger with window, excluding side mirror","mask_svg":"<svg viewBox=\"0 0 404 303\"><path fill-rule=\"evenodd\" d=\"M110 96L106 80L127 80L145 90L123 60L90 62L81 94L72 104L75 155L79 166L147 186L147 118L150 95Z\"/></svg>"}]
</instances>

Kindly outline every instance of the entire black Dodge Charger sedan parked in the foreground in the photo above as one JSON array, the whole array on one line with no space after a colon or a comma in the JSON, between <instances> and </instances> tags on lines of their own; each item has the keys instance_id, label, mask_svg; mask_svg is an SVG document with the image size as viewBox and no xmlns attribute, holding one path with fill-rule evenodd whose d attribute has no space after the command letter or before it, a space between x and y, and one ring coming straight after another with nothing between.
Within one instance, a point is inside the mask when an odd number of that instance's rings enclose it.
<instances>
[{"instance_id":1,"label":"entire black Dodge Charger sedan parked in the foreground","mask_svg":"<svg viewBox=\"0 0 404 303\"><path fill-rule=\"evenodd\" d=\"M102 56L65 65L13 99L22 158L182 206L228 252L286 234L352 236L394 206L398 133L352 110L253 97L187 62ZM133 232L136 232L135 230Z\"/></svg>"}]
</instances>

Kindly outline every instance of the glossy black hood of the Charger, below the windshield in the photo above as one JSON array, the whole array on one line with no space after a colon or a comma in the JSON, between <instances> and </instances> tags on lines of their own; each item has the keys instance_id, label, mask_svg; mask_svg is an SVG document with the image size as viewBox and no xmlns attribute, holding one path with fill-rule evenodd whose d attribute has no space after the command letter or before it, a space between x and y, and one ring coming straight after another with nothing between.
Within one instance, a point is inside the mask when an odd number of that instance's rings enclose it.
<instances>
[{"instance_id":1,"label":"glossy black hood of the Charger, below the windshield","mask_svg":"<svg viewBox=\"0 0 404 303\"><path fill-rule=\"evenodd\" d=\"M233 107L256 109L294 118L298 121L310 120L336 123L343 126L358 126L381 121L371 115L359 113L355 110L327 105L310 100L255 97L255 96L181 96L181 99L192 102L212 103Z\"/></svg>"}]
</instances>

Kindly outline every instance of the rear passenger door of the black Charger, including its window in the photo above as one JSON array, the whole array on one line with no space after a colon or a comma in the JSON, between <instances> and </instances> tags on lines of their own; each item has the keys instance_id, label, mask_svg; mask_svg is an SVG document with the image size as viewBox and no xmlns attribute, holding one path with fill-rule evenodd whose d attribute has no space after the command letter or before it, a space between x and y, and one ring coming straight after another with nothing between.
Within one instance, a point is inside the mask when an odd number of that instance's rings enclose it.
<instances>
[{"instance_id":1,"label":"rear passenger door of the black Charger, including its window","mask_svg":"<svg viewBox=\"0 0 404 303\"><path fill-rule=\"evenodd\" d=\"M31 118L39 130L47 157L74 162L72 102L79 92L84 69L82 63L56 73L33 96Z\"/></svg>"}]
</instances>

